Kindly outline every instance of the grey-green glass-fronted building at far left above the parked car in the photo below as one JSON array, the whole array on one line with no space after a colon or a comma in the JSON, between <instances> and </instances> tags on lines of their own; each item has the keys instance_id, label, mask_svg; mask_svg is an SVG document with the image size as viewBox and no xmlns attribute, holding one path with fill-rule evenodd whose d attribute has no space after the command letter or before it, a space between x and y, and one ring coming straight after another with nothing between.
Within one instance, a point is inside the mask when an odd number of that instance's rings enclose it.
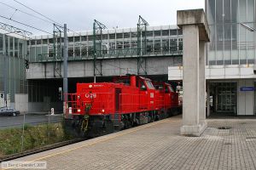
<instances>
[{"instance_id":1,"label":"grey-green glass-fronted building at far left above the parked car","mask_svg":"<svg viewBox=\"0 0 256 170\"><path fill-rule=\"evenodd\" d=\"M25 59L27 40L9 33L0 33L0 93L4 92L4 65L9 102L15 102L15 94L27 94ZM4 63L4 55L6 60Z\"/></svg>"}]
</instances>

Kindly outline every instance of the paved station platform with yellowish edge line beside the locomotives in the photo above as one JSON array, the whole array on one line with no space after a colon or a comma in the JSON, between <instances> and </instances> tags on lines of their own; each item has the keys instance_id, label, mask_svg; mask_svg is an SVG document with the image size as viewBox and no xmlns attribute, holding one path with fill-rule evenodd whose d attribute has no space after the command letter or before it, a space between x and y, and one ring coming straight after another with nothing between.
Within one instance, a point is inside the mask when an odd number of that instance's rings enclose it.
<instances>
[{"instance_id":1,"label":"paved station platform with yellowish edge line beside the locomotives","mask_svg":"<svg viewBox=\"0 0 256 170\"><path fill-rule=\"evenodd\" d=\"M256 119L207 124L201 137L185 137L182 117L174 116L14 161L46 161L47 169L61 170L256 169Z\"/></svg>"}]
</instances>

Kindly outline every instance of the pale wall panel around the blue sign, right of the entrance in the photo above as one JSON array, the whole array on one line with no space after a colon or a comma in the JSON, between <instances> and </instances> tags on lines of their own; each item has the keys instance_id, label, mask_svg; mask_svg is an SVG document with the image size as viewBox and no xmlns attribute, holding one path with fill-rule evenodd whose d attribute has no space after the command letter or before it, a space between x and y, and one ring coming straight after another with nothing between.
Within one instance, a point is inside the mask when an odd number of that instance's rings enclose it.
<instances>
[{"instance_id":1,"label":"pale wall panel around the blue sign, right of the entrance","mask_svg":"<svg viewBox=\"0 0 256 170\"><path fill-rule=\"evenodd\" d=\"M238 80L237 83L237 107L238 116L254 115L255 111L255 91L240 91L241 87L254 87L253 79Z\"/></svg>"}]
</instances>

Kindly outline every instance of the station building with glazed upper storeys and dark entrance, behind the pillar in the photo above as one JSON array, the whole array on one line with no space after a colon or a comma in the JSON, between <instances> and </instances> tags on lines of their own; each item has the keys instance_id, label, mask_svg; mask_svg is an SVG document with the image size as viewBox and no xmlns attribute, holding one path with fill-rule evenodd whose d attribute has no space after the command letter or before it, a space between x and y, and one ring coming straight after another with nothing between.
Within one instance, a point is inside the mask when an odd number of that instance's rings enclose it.
<instances>
[{"instance_id":1,"label":"station building with glazed upper storeys and dark entrance, behind the pillar","mask_svg":"<svg viewBox=\"0 0 256 170\"><path fill-rule=\"evenodd\" d=\"M206 78L209 115L256 115L255 0L206 0L211 42ZM182 80L182 65L168 68L168 80Z\"/></svg>"}]
</instances>

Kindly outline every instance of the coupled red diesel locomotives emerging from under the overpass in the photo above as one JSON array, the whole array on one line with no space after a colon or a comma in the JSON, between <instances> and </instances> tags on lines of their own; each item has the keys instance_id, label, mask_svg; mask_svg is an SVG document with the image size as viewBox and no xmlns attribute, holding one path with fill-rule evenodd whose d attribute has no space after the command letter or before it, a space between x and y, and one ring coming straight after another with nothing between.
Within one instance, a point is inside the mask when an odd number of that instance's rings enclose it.
<instances>
[{"instance_id":1,"label":"coupled red diesel locomotives emerging from under the overpass","mask_svg":"<svg viewBox=\"0 0 256 170\"><path fill-rule=\"evenodd\" d=\"M66 118L72 116L76 132L95 136L165 118L177 109L177 94L170 84L153 85L145 77L114 77L113 82L77 83L68 106Z\"/></svg>"}]
</instances>

